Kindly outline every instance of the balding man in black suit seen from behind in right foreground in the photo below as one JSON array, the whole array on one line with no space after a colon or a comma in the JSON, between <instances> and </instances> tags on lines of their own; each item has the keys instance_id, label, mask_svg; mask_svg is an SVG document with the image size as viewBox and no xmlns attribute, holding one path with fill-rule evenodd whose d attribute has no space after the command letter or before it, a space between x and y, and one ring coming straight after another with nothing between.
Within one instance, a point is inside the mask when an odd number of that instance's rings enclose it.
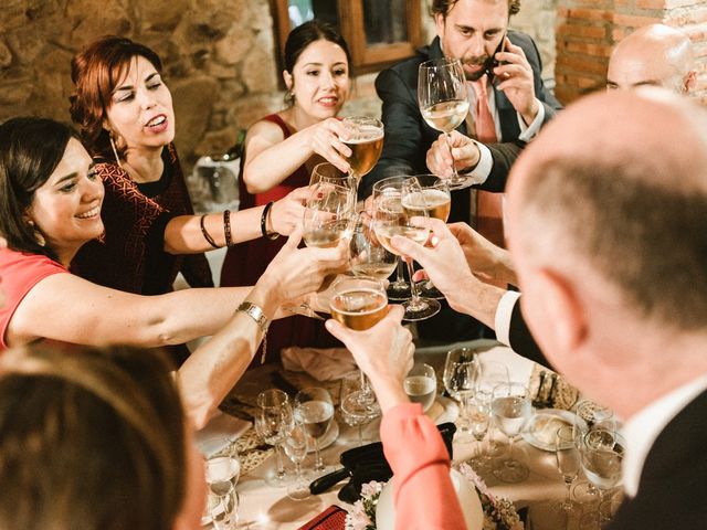
<instances>
[{"instance_id":1,"label":"balding man in black suit seen from behind in right foreground","mask_svg":"<svg viewBox=\"0 0 707 530\"><path fill-rule=\"evenodd\" d=\"M570 383L625 421L627 500L612 529L707 520L705 131L707 112L674 93L598 94L544 129L509 178L528 326Z\"/></svg>"}]
</instances>

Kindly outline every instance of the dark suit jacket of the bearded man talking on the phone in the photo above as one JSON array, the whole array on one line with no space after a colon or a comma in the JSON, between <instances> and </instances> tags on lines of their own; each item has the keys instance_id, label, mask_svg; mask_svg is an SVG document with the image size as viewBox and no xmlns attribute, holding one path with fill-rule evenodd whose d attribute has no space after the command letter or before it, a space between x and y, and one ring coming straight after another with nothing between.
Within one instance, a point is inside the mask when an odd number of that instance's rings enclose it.
<instances>
[{"instance_id":1,"label":"dark suit jacket of the bearded man talking on the phone","mask_svg":"<svg viewBox=\"0 0 707 530\"><path fill-rule=\"evenodd\" d=\"M558 100L545 87L541 77L542 63L538 49L530 36L516 31L508 31L508 39L520 46L532 67L536 97L545 106L545 121L551 119L561 108ZM373 170L363 177L359 187L361 198L371 193L373 183L395 174L415 174L429 172L425 156L430 146L440 136L440 131L430 127L422 118L418 106L418 68L430 59L442 57L440 39L418 50L418 54L409 60L382 71L376 80L376 91L382 99L382 121L386 126L383 152ZM503 191L510 166L518 157L525 142L518 140L520 126L516 109L506 95L494 86L496 108L503 135L503 142L488 145L494 165L488 179L478 188L487 191ZM466 134L463 123L457 130ZM468 190L453 193L452 214L450 221L468 222Z\"/></svg>"}]
</instances>

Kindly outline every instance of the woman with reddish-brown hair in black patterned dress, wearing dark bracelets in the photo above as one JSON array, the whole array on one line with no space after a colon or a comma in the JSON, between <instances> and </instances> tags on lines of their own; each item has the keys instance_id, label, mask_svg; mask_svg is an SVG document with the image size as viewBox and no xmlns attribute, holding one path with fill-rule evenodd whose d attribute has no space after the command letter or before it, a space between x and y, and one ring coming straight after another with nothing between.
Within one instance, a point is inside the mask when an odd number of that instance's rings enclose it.
<instances>
[{"instance_id":1,"label":"woman with reddish-brown hair in black patterned dress, wearing dark bracelets","mask_svg":"<svg viewBox=\"0 0 707 530\"><path fill-rule=\"evenodd\" d=\"M201 253L260 237L261 220L268 231L289 234L306 197L296 191L271 212L263 206L194 216L161 71L152 50L119 36L89 44L72 61L72 119L106 189L105 234L84 245L72 271L143 295L170 292L180 271L192 287L213 286Z\"/></svg>"}]
</instances>

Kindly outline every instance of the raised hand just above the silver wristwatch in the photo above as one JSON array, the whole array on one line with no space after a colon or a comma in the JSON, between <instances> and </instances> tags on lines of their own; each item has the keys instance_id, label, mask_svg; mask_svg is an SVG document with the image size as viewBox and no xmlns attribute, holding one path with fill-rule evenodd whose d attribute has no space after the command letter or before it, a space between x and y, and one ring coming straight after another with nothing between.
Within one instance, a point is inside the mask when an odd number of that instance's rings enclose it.
<instances>
[{"instance_id":1,"label":"raised hand just above the silver wristwatch","mask_svg":"<svg viewBox=\"0 0 707 530\"><path fill-rule=\"evenodd\" d=\"M346 266L348 240L334 248L297 248L300 241L297 226L258 280L267 283L279 304L318 290L327 275Z\"/></svg>"}]
</instances>

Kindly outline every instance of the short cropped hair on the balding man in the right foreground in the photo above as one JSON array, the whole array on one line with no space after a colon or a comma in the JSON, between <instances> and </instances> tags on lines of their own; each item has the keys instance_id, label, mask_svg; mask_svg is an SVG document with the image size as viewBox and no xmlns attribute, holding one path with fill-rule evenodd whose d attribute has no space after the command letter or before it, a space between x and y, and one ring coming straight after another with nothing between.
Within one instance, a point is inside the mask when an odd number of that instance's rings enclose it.
<instances>
[{"instance_id":1,"label":"short cropped hair on the balding man in the right foreground","mask_svg":"<svg viewBox=\"0 0 707 530\"><path fill-rule=\"evenodd\" d=\"M618 120L633 117L636 123L630 127L639 128L651 121L650 116L665 119L665 110L675 109L654 106L650 114L651 107L643 106L648 114L639 119L635 105L633 114L621 114L612 97L627 102L639 96L595 96L594 104L601 99L606 109L591 107L598 116L587 118L588 130L597 130L610 113ZM589 105L583 105L588 115ZM689 131L689 145L677 147L674 142L682 140L653 135L650 147L641 146L647 137L631 137L626 130L633 129L624 127L614 128L611 136L602 131L605 138L585 146L584 153L579 135L587 131L578 132L573 147L558 148L557 155L547 152L549 140L532 146L546 153L525 165L517 221L521 246L530 253L542 248L544 261L579 256L641 317L698 330L707 326L707 119L689 102L679 105L682 120L673 123ZM624 140L618 142L622 134ZM657 148L659 140L665 149Z\"/></svg>"}]
</instances>

